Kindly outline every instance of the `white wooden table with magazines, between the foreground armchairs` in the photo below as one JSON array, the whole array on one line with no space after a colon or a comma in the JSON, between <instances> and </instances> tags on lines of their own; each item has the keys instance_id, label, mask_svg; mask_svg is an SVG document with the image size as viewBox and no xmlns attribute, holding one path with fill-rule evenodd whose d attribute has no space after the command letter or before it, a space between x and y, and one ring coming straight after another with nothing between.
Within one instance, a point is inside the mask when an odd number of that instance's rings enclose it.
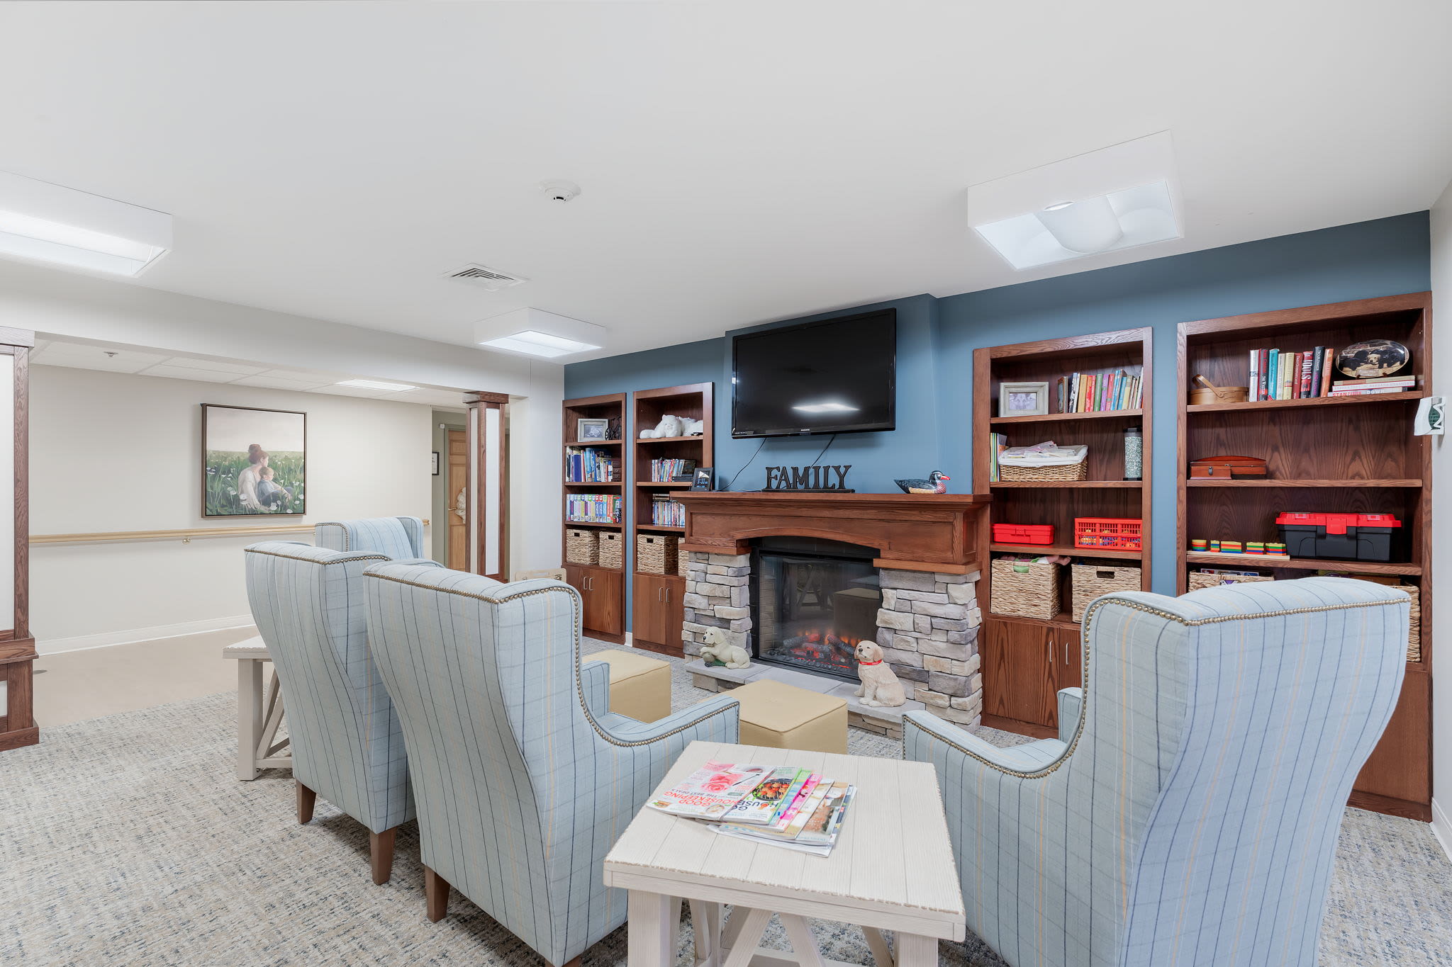
<instances>
[{"instance_id":1,"label":"white wooden table with magazines, between the foreground armchairs","mask_svg":"<svg viewBox=\"0 0 1452 967\"><path fill-rule=\"evenodd\" d=\"M939 939L963 939L963 895L932 765L691 742L659 789L707 760L810 767L855 784L857 797L826 858L642 809L604 864L605 886L630 892L630 967L674 966L681 899L693 902L697 954L710 967L835 963L820 955L804 918L860 925L878 967L929 967ZM733 908L723 931L722 905ZM772 913L793 953L758 947ZM896 958L881 931L896 931Z\"/></svg>"}]
</instances>

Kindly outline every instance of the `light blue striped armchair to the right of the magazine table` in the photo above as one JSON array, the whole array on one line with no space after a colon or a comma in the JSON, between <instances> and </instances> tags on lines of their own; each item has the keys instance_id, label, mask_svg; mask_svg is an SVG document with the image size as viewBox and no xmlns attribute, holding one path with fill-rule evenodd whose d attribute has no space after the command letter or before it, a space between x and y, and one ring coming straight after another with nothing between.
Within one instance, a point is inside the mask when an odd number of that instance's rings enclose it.
<instances>
[{"instance_id":1,"label":"light blue striped armchair to the right of the magazine table","mask_svg":"<svg viewBox=\"0 0 1452 967\"><path fill-rule=\"evenodd\" d=\"M968 928L1015 967L1314 967L1407 621L1401 592L1330 577L1109 594L1060 739L995 748L908 713Z\"/></svg>"}]
</instances>

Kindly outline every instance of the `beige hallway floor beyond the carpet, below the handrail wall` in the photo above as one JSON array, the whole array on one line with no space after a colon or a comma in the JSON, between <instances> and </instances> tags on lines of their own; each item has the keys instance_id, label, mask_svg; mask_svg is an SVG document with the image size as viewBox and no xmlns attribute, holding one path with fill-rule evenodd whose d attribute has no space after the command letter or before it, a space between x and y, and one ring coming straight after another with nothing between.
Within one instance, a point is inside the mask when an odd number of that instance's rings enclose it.
<instances>
[{"instance_id":1,"label":"beige hallway floor beyond the carpet, below the handrail wall","mask_svg":"<svg viewBox=\"0 0 1452 967\"><path fill-rule=\"evenodd\" d=\"M42 655L35 663L35 721L42 729L237 690L222 647L257 634L228 628Z\"/></svg>"}]
</instances>

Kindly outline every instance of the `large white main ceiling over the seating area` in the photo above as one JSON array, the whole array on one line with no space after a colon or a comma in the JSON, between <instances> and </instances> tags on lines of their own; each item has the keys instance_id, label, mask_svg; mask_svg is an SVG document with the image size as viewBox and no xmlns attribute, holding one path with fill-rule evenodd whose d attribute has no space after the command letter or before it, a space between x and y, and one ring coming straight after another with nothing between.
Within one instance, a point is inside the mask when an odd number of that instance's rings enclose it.
<instances>
[{"instance_id":1,"label":"large white main ceiling over the seating area","mask_svg":"<svg viewBox=\"0 0 1452 967\"><path fill-rule=\"evenodd\" d=\"M4 3L0 170L176 216L136 284L459 344L534 306L605 355L1424 209L1449 38L1445 0ZM964 220L1159 130L1182 241L1016 273Z\"/></svg>"}]
</instances>

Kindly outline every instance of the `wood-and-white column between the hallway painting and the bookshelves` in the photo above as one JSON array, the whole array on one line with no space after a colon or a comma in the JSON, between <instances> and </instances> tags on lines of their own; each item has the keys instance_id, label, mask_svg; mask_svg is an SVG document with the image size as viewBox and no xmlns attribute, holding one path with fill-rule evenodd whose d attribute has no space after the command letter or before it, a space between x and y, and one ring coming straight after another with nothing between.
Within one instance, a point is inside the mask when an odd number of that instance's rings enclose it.
<instances>
[{"instance_id":1,"label":"wood-and-white column between the hallway painting and the bookshelves","mask_svg":"<svg viewBox=\"0 0 1452 967\"><path fill-rule=\"evenodd\" d=\"M508 580L510 447L507 393L469 393L469 570Z\"/></svg>"}]
</instances>

